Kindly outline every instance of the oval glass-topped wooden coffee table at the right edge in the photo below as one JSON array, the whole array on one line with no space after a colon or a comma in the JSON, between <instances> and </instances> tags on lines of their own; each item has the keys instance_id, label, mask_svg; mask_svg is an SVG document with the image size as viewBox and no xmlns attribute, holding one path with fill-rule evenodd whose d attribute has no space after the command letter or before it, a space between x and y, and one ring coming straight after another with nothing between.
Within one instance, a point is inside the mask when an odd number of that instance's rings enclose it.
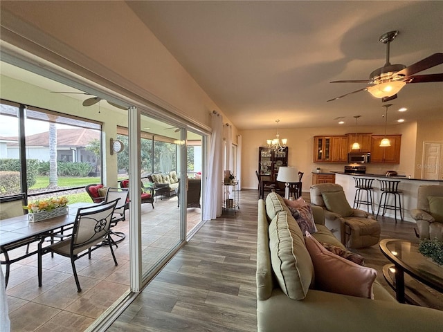
<instances>
[{"instance_id":1,"label":"oval glass-topped wooden coffee table at the right edge","mask_svg":"<svg viewBox=\"0 0 443 332\"><path fill-rule=\"evenodd\" d=\"M398 302L405 303L404 273L443 293L443 266L424 257L418 251L417 244L399 239L383 239L379 246L383 255L393 263L383 267L383 276L395 289ZM389 273L392 266L395 266L395 280L392 280Z\"/></svg>"}]
</instances>

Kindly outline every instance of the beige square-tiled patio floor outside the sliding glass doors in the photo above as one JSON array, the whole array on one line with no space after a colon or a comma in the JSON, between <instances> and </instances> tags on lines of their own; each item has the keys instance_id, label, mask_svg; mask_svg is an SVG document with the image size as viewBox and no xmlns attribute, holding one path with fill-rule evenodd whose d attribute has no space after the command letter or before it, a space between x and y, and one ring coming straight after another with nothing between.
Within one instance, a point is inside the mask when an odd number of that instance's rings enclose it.
<instances>
[{"instance_id":1,"label":"beige square-tiled patio floor outside the sliding glass doors","mask_svg":"<svg viewBox=\"0 0 443 332\"><path fill-rule=\"evenodd\" d=\"M143 270L179 239L177 197L158 200L154 207L142 205ZM200 212L188 209L188 232L199 222ZM114 230L128 234L127 221L118 223ZM94 251L91 259L85 256L75 262L81 293L66 257L44 255L40 288L36 255L12 264L6 290L11 331L60 331L60 326L64 331L84 331L129 289L129 237L118 243L114 252L118 266L106 246Z\"/></svg>"}]
</instances>

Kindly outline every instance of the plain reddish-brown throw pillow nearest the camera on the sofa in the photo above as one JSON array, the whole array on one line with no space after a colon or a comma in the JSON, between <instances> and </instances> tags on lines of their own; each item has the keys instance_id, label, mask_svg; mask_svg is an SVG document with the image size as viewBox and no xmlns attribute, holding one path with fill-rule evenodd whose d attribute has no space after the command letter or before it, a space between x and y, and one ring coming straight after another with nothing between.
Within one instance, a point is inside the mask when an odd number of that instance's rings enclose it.
<instances>
[{"instance_id":1,"label":"plain reddish-brown throw pillow nearest the camera on the sofa","mask_svg":"<svg viewBox=\"0 0 443 332\"><path fill-rule=\"evenodd\" d=\"M374 298L377 271L337 256L306 232L306 248L314 264L316 288L331 293Z\"/></svg>"}]
</instances>

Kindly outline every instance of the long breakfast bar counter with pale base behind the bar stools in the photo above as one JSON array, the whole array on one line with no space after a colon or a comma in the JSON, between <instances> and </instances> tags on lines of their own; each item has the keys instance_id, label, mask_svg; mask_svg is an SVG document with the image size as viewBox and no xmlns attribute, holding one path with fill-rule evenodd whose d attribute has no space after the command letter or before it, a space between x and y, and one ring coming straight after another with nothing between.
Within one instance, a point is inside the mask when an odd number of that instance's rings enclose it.
<instances>
[{"instance_id":1,"label":"long breakfast bar counter with pale base behind the bar stools","mask_svg":"<svg viewBox=\"0 0 443 332\"><path fill-rule=\"evenodd\" d=\"M410 216L409 211L417 208L417 192L420 185L443 185L443 180L423 180L421 178L408 178L406 176L385 176L384 174L355 174L345 172L331 172L336 174L335 183L338 183L343 187L345 191L346 199L352 206L354 204L355 196L355 182L354 176L361 176L364 178L374 178L372 182L372 197L374 202L374 214L377 215L379 208L379 201L381 196L379 180L396 180L400 181L399 190L401 191L401 208L403 209L404 220L415 223L414 219ZM389 195L392 196L392 195ZM392 201L388 203L393 203ZM366 210L365 206L360 207L361 210ZM381 214L381 211L380 211ZM387 210L385 216L394 217L393 210Z\"/></svg>"}]
</instances>

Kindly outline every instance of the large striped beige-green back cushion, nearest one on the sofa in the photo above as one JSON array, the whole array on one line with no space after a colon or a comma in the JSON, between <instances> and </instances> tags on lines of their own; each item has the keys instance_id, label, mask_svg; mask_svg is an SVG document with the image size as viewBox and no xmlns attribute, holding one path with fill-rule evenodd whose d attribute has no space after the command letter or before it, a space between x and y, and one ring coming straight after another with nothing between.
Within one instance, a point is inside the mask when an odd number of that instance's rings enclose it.
<instances>
[{"instance_id":1,"label":"large striped beige-green back cushion, nearest one on the sofa","mask_svg":"<svg viewBox=\"0 0 443 332\"><path fill-rule=\"evenodd\" d=\"M314 266L302 232L287 211L278 212L269 225L269 250L273 272L284 294L304 299L314 279Z\"/></svg>"}]
</instances>

